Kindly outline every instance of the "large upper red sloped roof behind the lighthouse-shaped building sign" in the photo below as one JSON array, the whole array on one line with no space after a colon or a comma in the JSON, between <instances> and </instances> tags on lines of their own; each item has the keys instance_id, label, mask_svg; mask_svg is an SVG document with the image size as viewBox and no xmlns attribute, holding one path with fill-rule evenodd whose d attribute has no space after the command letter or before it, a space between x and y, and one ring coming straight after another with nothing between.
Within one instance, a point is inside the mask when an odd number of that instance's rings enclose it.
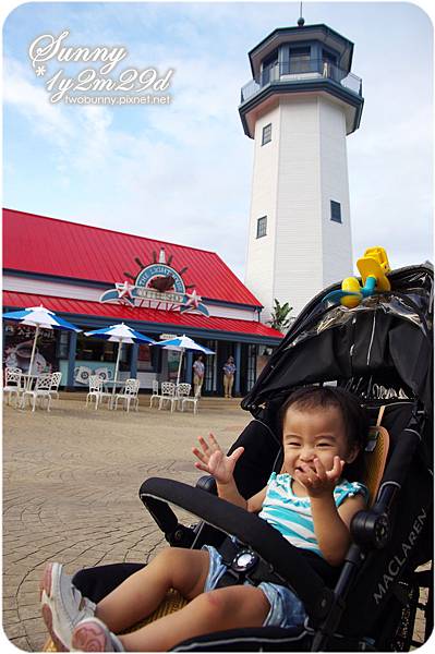
<instances>
[{"instance_id":1,"label":"large upper red sloped roof behind the lighthouse-shaped building sign","mask_svg":"<svg viewBox=\"0 0 435 654\"><path fill-rule=\"evenodd\" d=\"M12 270L111 284L123 281L124 271L136 276L134 258L147 266L161 246L177 270L189 267L183 280L200 295L262 306L215 252L3 209L3 267Z\"/></svg>"}]
</instances>

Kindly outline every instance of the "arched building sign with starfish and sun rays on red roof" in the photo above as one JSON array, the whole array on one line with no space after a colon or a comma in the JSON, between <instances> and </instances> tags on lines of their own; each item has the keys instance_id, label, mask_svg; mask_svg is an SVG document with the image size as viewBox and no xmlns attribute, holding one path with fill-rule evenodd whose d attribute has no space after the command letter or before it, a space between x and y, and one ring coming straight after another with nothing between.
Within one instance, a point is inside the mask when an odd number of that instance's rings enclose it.
<instances>
[{"instance_id":1,"label":"arched building sign with starfish and sun rays on red roof","mask_svg":"<svg viewBox=\"0 0 435 654\"><path fill-rule=\"evenodd\" d=\"M196 293L194 286L185 286L183 274L188 268L177 271L171 266L172 255L166 261L165 247L160 249L158 261L144 266L136 257L135 262L141 266L140 272L134 277L124 272L126 279L122 283L116 283L114 289L105 291L100 302L118 302L130 306L147 306L164 311L180 311L181 313L201 313L208 316L208 310ZM191 290L192 289L192 290Z\"/></svg>"}]
</instances>

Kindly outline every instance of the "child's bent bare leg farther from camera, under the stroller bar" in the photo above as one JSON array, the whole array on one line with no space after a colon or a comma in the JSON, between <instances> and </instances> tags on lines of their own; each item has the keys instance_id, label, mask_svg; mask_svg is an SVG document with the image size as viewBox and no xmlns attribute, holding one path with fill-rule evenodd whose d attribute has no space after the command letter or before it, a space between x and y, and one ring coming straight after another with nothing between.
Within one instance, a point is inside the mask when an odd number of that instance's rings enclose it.
<instances>
[{"instance_id":1,"label":"child's bent bare leg farther from camera, under the stroller bar","mask_svg":"<svg viewBox=\"0 0 435 654\"><path fill-rule=\"evenodd\" d=\"M167 547L104 597L95 615L117 633L152 614L171 588L186 600L196 597L207 573L208 552Z\"/></svg>"}]
</instances>

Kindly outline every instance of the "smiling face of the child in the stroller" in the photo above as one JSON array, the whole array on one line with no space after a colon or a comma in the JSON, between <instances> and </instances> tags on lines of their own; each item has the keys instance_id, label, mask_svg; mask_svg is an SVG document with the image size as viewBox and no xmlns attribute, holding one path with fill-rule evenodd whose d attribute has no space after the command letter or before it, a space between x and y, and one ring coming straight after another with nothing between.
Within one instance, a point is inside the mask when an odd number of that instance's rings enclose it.
<instances>
[{"instance_id":1,"label":"smiling face of the child in the stroller","mask_svg":"<svg viewBox=\"0 0 435 654\"><path fill-rule=\"evenodd\" d=\"M282 425L283 469L293 475L301 463L315 470L314 459L319 459L326 470L331 470L334 457L351 463L358 448L349 448L345 421L337 407L327 409L287 410Z\"/></svg>"}]
</instances>

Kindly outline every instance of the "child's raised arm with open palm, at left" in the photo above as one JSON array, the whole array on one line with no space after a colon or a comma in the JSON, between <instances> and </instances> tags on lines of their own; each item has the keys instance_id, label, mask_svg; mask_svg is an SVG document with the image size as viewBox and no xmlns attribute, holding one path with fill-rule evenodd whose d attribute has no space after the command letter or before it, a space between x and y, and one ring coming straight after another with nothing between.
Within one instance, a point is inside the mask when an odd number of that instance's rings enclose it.
<instances>
[{"instance_id":1,"label":"child's raised arm with open palm, at left","mask_svg":"<svg viewBox=\"0 0 435 654\"><path fill-rule=\"evenodd\" d=\"M213 434L209 435L209 444L202 436L198 437L198 441L201 450L197 447L192 448L195 457L200 459L195 462L195 468L204 470L215 477L219 497L247 511L259 511L266 495L266 488L263 488L246 501L239 493L234 481L235 463L243 455L244 448L238 447L232 455L227 457Z\"/></svg>"}]
</instances>

